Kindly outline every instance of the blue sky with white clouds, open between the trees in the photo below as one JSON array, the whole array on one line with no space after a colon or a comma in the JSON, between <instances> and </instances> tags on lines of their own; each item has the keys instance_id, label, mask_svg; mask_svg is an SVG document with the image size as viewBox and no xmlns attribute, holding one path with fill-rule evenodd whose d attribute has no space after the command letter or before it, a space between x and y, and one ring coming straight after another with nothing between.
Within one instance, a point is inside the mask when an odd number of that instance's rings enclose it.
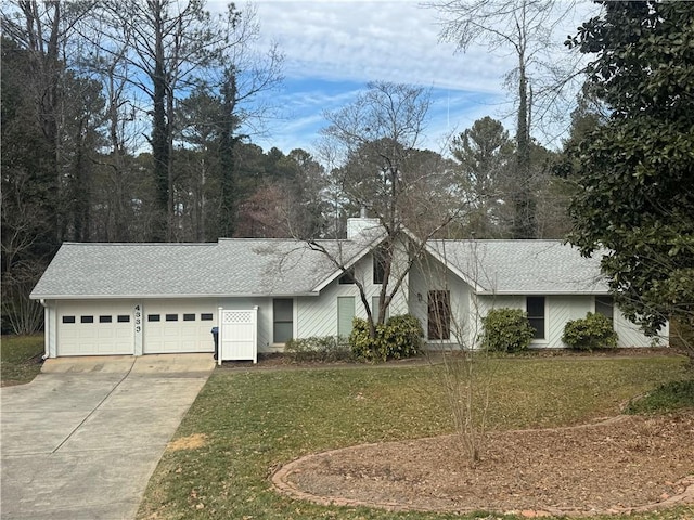
<instances>
[{"instance_id":1,"label":"blue sky with white clouds, open between the trees","mask_svg":"<svg viewBox=\"0 0 694 520\"><path fill-rule=\"evenodd\" d=\"M285 81L270 94L281 117L268 121L267 135L253 138L264 150L314 153L319 131L326 126L323 113L349 104L375 80L430 89L425 147L444 151L448 135L487 115L513 133L503 77L513 68L514 55L491 54L479 46L457 53L453 44L439 41L438 13L419 2L257 0L254 5L259 49L277 42L285 55ZM579 22L568 22L560 37Z\"/></svg>"}]
</instances>

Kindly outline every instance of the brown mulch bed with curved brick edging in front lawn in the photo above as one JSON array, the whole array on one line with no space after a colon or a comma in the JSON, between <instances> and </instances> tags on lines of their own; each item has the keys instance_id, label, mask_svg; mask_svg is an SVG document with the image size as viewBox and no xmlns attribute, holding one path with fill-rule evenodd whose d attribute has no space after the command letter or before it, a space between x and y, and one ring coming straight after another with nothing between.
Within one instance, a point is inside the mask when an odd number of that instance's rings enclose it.
<instances>
[{"instance_id":1,"label":"brown mulch bed with curved brick edging in front lawn","mask_svg":"<svg viewBox=\"0 0 694 520\"><path fill-rule=\"evenodd\" d=\"M490 432L471 467L455 435L354 446L281 468L275 486L394 510L590 515L694 504L694 411Z\"/></svg>"}]
</instances>

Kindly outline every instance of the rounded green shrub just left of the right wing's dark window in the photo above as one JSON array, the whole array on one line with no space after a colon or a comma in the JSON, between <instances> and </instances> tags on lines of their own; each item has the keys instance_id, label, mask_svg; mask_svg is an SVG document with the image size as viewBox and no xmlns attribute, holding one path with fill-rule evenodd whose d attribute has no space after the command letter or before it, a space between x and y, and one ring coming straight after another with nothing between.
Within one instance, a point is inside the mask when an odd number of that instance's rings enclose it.
<instances>
[{"instance_id":1,"label":"rounded green shrub just left of the right wing's dark window","mask_svg":"<svg viewBox=\"0 0 694 520\"><path fill-rule=\"evenodd\" d=\"M492 309L481 318L483 347L497 352L526 350L535 330L520 309Z\"/></svg>"}]
</instances>

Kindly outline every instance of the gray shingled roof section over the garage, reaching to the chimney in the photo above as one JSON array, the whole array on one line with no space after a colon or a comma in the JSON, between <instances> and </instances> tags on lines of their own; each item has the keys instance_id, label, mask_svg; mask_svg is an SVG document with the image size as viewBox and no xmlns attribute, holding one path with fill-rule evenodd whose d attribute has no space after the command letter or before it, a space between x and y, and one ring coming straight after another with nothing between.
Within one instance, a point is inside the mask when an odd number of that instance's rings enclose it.
<instances>
[{"instance_id":1,"label":"gray shingled roof section over the garage, reaching to the chimney","mask_svg":"<svg viewBox=\"0 0 694 520\"><path fill-rule=\"evenodd\" d=\"M363 253L354 242L324 245L346 260ZM303 295L337 275L325 255L295 240L66 243L31 298Z\"/></svg>"}]
</instances>

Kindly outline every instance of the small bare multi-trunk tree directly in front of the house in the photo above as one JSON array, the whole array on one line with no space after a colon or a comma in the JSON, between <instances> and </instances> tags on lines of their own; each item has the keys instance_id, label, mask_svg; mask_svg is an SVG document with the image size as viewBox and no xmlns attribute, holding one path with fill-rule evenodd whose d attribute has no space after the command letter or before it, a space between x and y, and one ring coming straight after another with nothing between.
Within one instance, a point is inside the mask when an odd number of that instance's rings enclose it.
<instances>
[{"instance_id":1,"label":"small bare multi-trunk tree directly in front of the house","mask_svg":"<svg viewBox=\"0 0 694 520\"><path fill-rule=\"evenodd\" d=\"M380 244L375 255L383 282L377 313L363 282L355 280L374 337L375 325L385 320L426 242L454 214L444 200L447 192L441 190L450 171L428 162L432 156L416 148L429 107L428 93L419 87L388 82L368 87L354 103L325 115L330 126L322 132L322 151L336 166L331 170L332 183L342 196L377 222L375 230L362 237L364 247ZM342 250L330 250L313 239L309 246L348 273L349 257Z\"/></svg>"}]
</instances>

